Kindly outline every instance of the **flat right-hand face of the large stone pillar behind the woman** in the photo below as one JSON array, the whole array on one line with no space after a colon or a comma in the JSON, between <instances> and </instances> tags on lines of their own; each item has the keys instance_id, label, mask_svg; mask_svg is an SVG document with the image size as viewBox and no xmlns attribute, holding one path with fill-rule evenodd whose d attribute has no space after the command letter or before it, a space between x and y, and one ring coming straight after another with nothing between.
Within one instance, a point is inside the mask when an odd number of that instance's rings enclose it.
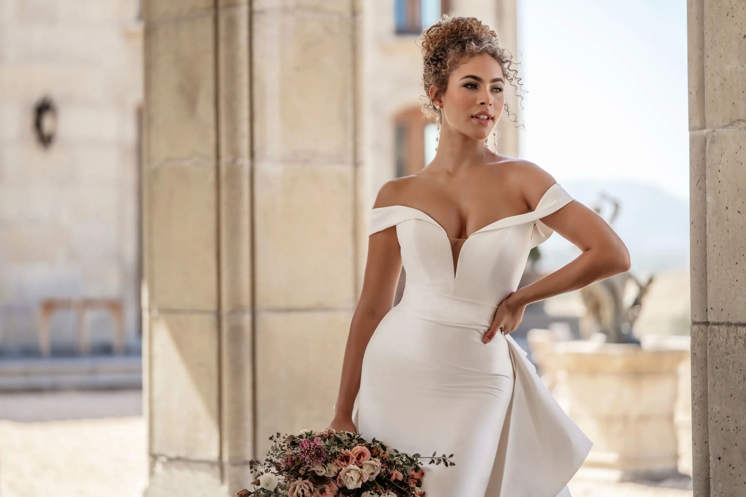
<instances>
[{"instance_id":1,"label":"flat right-hand face of the large stone pillar behind the woman","mask_svg":"<svg viewBox=\"0 0 746 497\"><path fill-rule=\"evenodd\" d=\"M293 9L288 8L290 5ZM360 286L357 0L254 0L256 434L325 428Z\"/></svg>"}]
</instances>

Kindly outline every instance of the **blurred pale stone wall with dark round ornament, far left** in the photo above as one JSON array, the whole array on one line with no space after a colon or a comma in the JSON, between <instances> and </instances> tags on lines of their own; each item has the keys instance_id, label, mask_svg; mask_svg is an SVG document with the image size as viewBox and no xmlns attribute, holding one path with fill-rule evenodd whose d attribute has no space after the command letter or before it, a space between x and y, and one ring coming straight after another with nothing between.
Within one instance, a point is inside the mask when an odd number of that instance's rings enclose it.
<instances>
[{"instance_id":1,"label":"blurred pale stone wall with dark round ornament, far left","mask_svg":"<svg viewBox=\"0 0 746 497\"><path fill-rule=\"evenodd\" d=\"M118 297L137 344L137 0L0 1L0 352L37 354L43 297ZM50 95L58 134L38 144L34 104ZM94 344L110 344L104 313ZM52 320L73 349L75 321Z\"/></svg>"}]
</instances>

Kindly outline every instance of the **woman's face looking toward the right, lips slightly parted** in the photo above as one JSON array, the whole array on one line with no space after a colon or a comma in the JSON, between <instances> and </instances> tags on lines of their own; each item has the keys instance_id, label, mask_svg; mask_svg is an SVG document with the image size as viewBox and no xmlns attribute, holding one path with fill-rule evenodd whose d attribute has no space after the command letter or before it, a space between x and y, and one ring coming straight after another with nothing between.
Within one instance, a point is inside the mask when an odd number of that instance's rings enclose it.
<instances>
[{"instance_id":1,"label":"woman's face looking toward the right, lips slightly parted","mask_svg":"<svg viewBox=\"0 0 746 497\"><path fill-rule=\"evenodd\" d=\"M503 110L504 86L503 69L488 54L464 60L448 77L445 93L433 100L440 106L443 127L473 139L487 138Z\"/></svg>"}]
</instances>

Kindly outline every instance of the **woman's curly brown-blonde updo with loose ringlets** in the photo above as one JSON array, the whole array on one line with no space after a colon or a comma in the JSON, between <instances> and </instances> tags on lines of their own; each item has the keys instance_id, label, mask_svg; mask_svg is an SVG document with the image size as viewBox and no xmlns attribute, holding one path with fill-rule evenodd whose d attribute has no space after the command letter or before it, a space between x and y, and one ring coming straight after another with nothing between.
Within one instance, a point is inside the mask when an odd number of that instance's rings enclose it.
<instances>
[{"instance_id":1,"label":"woman's curly brown-blonde updo with loose ringlets","mask_svg":"<svg viewBox=\"0 0 746 497\"><path fill-rule=\"evenodd\" d=\"M440 110L436 109L430 100L430 86L435 85L445 92L451 72L463 60L474 55L488 54L497 60L503 68L504 77L516 90L518 90L516 85L523 84L521 77L518 77L518 71L512 67L516 65L513 62L513 55L500 47L498 34L483 25L476 17L454 17L451 13L444 14L438 22L424 31L421 48L424 65L422 85L425 98L427 98L427 103L422 106L422 112L428 118L437 119L440 113ZM517 91L516 95L518 95ZM519 96L522 102L523 95ZM507 102L504 108L508 115L515 116L514 113L510 113ZM511 121L515 124L517 116ZM523 127L523 124L518 127Z\"/></svg>"}]
</instances>

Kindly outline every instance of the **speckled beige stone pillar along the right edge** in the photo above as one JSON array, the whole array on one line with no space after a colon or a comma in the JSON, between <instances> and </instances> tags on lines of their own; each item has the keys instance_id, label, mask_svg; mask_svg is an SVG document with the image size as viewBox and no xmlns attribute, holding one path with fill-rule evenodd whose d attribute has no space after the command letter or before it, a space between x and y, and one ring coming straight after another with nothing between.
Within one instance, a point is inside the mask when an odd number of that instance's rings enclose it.
<instances>
[{"instance_id":1,"label":"speckled beige stone pillar along the right edge","mask_svg":"<svg viewBox=\"0 0 746 497\"><path fill-rule=\"evenodd\" d=\"M746 8L689 0L695 497L746 495Z\"/></svg>"}]
</instances>

